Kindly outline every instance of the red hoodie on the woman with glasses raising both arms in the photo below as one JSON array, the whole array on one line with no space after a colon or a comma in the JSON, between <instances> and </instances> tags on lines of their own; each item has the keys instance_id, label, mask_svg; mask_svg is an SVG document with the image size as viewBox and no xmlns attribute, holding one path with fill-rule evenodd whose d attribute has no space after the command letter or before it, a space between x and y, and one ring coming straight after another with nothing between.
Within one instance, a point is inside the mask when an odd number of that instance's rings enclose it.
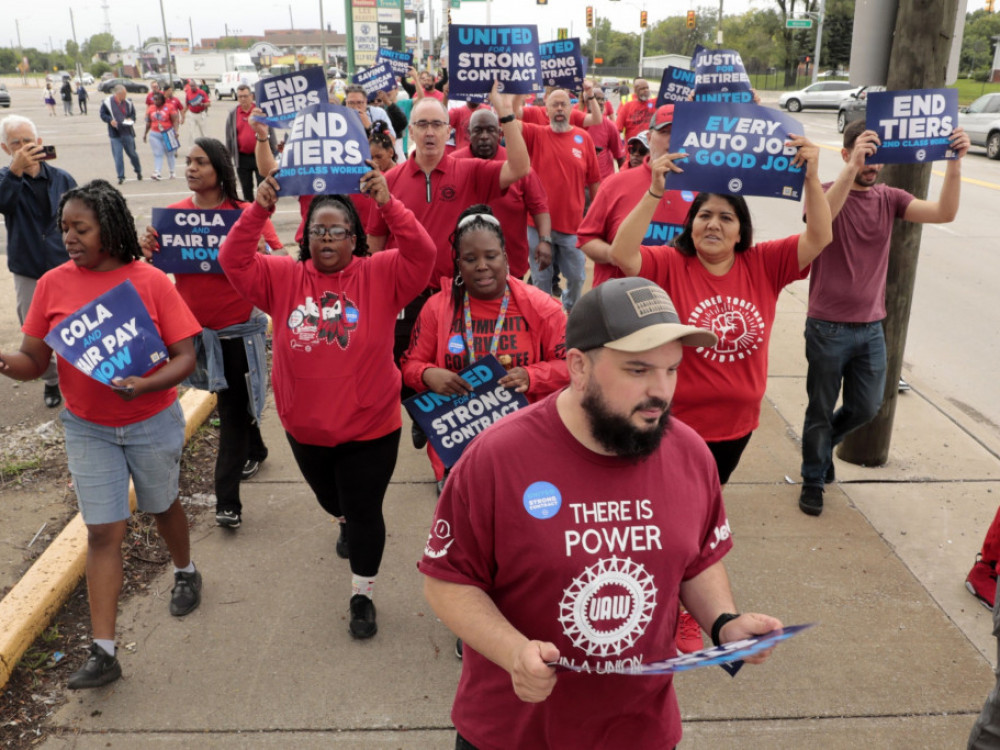
<instances>
[{"instance_id":1,"label":"red hoodie on the woman with glasses raising both arms","mask_svg":"<svg viewBox=\"0 0 1000 750\"><path fill-rule=\"evenodd\" d=\"M282 426L300 443L374 440L402 426L393 328L427 286L437 249L395 198L380 213L400 249L353 257L337 273L321 273L311 260L260 255L268 212L258 203L219 252L232 285L274 321L274 400Z\"/></svg>"}]
</instances>

